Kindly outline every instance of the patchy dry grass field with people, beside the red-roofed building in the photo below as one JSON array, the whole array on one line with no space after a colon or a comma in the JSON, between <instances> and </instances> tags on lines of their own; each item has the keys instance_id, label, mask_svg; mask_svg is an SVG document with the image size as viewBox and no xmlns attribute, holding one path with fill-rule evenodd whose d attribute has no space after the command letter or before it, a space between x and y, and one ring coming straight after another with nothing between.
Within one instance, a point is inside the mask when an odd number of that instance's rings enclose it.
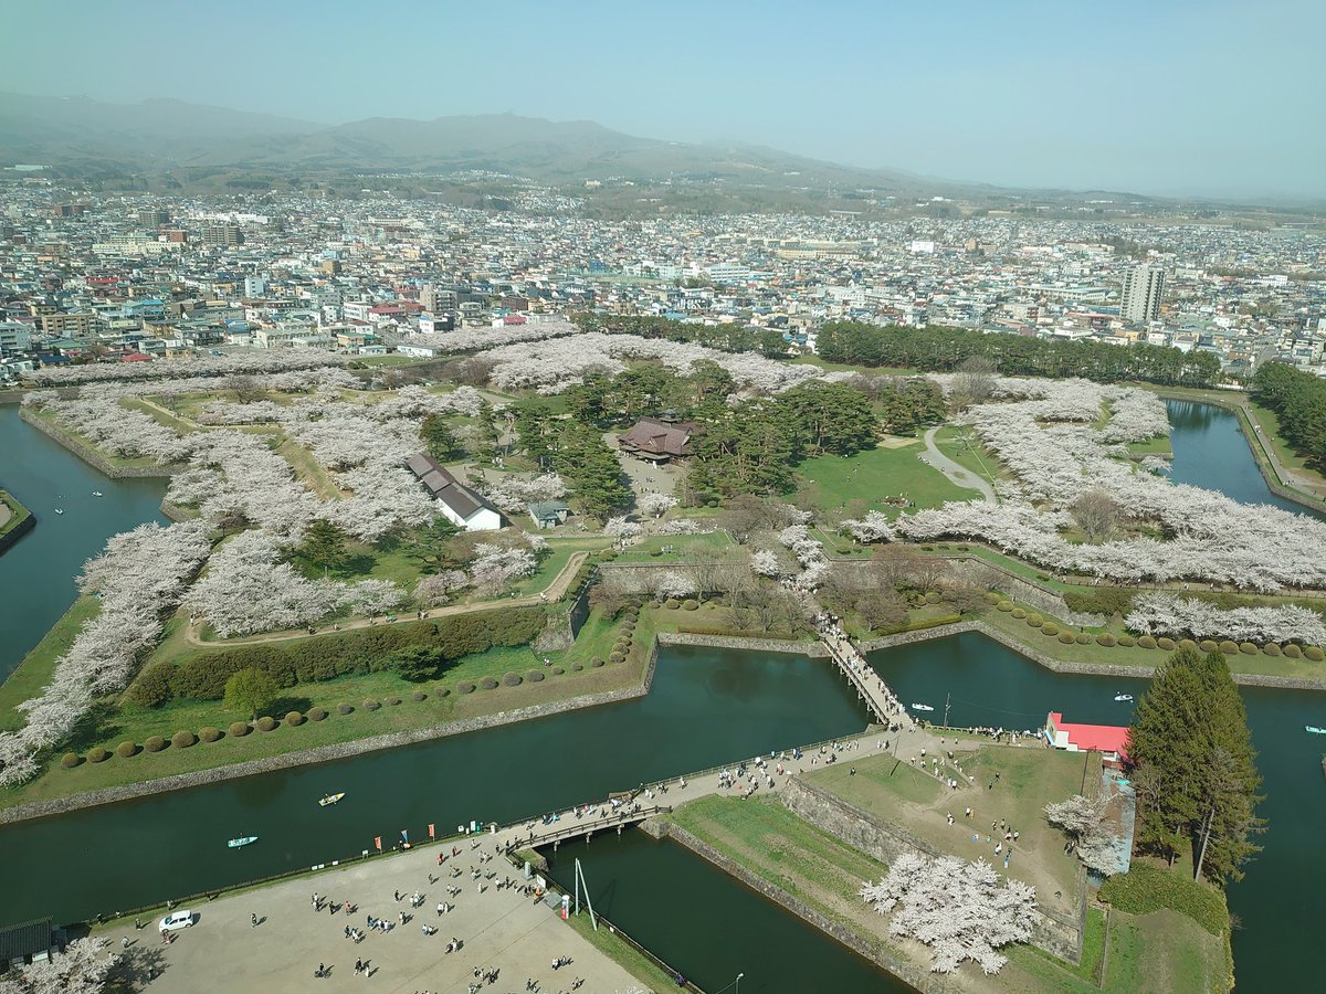
<instances>
[{"instance_id":1,"label":"patchy dry grass field with people, beside the red-roofed building","mask_svg":"<svg viewBox=\"0 0 1326 994\"><path fill-rule=\"evenodd\" d=\"M1063 836L1041 811L1048 803L1082 793L1083 779L1086 789L1093 789L1101 777L1098 754L1013 746L955 750L960 771L949 767L947 775L957 779L957 790L914 769L911 759L871 755L804 775L812 786L899 826L915 839L963 859L984 859L1001 869L1002 854L996 856L994 846L1004 842L1004 831L992 832L991 824L1002 820L1020 834L1002 872L1032 884L1052 908L1071 913L1078 907L1078 863L1063 855ZM967 807L972 808L969 819L963 816ZM953 824L948 824L949 814Z\"/></svg>"}]
</instances>

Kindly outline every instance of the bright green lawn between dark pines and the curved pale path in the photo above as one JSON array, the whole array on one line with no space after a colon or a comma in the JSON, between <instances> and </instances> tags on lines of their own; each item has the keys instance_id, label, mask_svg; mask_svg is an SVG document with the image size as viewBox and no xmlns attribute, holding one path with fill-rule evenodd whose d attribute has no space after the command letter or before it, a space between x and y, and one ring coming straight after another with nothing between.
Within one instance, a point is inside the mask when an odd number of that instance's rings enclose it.
<instances>
[{"instance_id":1,"label":"bright green lawn between dark pines and the curved pale path","mask_svg":"<svg viewBox=\"0 0 1326 994\"><path fill-rule=\"evenodd\" d=\"M904 497L918 508L937 508L944 501L965 501L976 496L948 481L943 473L918 459L924 445L918 440L903 448L873 448L854 456L815 456L797 467L806 505L821 514L849 516L879 510L890 517L899 508L886 497Z\"/></svg>"}]
</instances>

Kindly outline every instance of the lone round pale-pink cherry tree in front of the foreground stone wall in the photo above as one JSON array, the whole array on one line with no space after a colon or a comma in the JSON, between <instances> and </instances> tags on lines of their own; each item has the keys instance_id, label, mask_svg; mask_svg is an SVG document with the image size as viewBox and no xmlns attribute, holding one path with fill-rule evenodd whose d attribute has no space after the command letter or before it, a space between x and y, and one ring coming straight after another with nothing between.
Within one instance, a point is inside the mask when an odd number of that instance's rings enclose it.
<instances>
[{"instance_id":1,"label":"lone round pale-pink cherry tree in front of the foreground stone wall","mask_svg":"<svg viewBox=\"0 0 1326 994\"><path fill-rule=\"evenodd\" d=\"M998 973L1008 958L996 950L1026 942L1038 918L1036 892L1016 880L1001 883L985 860L904 852L883 880L859 893L880 914L892 913L891 936L934 950L934 973L953 973L965 960Z\"/></svg>"}]
</instances>

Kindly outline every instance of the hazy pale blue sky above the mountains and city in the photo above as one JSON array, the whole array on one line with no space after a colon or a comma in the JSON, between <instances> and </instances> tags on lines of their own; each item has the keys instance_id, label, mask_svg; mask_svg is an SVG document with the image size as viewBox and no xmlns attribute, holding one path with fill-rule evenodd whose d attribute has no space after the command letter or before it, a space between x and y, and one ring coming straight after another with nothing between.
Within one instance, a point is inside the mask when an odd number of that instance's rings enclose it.
<instances>
[{"instance_id":1,"label":"hazy pale blue sky above the mountains and city","mask_svg":"<svg viewBox=\"0 0 1326 994\"><path fill-rule=\"evenodd\" d=\"M1008 186L1326 196L1326 0L4 0L0 89L514 111Z\"/></svg>"}]
</instances>

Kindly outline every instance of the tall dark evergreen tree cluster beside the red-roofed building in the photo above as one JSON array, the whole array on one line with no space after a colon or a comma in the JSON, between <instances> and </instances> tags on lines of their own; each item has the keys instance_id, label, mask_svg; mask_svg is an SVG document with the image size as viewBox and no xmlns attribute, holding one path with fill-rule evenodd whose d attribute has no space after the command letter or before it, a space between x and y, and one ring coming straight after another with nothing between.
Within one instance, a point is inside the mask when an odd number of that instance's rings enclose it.
<instances>
[{"instance_id":1,"label":"tall dark evergreen tree cluster beside the red-roofed building","mask_svg":"<svg viewBox=\"0 0 1326 994\"><path fill-rule=\"evenodd\" d=\"M1254 814L1261 777L1224 656L1180 649L1166 660L1138 702L1128 754L1138 765L1138 847L1171 865L1191 847L1195 875L1241 879L1264 826Z\"/></svg>"}]
</instances>

